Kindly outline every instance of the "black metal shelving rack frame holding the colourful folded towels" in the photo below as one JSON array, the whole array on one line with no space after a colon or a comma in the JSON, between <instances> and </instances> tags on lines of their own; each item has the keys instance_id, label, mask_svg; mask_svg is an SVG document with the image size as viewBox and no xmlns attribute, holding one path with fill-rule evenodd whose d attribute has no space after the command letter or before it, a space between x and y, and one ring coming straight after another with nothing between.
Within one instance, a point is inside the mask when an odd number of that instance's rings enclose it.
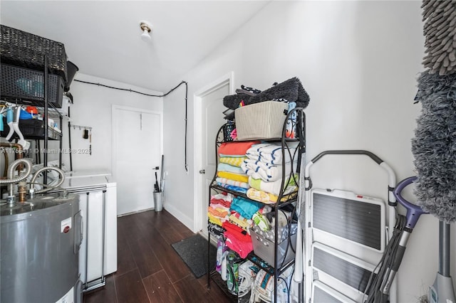
<instances>
[{"instance_id":1,"label":"black metal shelving rack frame holding the colourful folded towels","mask_svg":"<svg viewBox=\"0 0 456 303\"><path fill-rule=\"evenodd\" d=\"M290 138L286 137L286 126L287 126L287 121L291 121L291 119L290 119L291 115L293 115L294 113L296 113L296 122L294 122L294 123L296 123L295 124L296 138L290 139ZM224 129L224 126L220 127L219 132L217 133L217 138L215 140L215 154L216 155L218 155L218 149L222 143L230 142L230 141L224 141L223 129ZM294 159L297 159L296 171L294 171L293 166L292 166L291 173L289 174L289 178L293 178L294 174L300 175L301 167L303 167L301 164L304 164L305 153L306 153L306 115L304 113L304 109L301 107L296 107L294 110L291 110L288 113L288 115L286 116L285 122L284 122L284 126L282 128L282 136L280 138L249 139L249 140L243 140L243 141L256 141L256 140L260 140L262 142L281 142L281 151L283 154L285 154L286 152L290 153L291 163L294 162ZM234 141L234 142L239 142L239 141ZM291 149L290 149L291 144L293 144L293 145L297 144L294 154L291 154ZM283 158L282 159L282 176L286 176L286 174L285 174L285 165L286 165L285 156L283 156L282 158ZM216 161L216 165L217 165L219 163L218 156L217 156L216 160L217 160ZM303 171L302 176L304 176L304 171ZM248 198L247 195L245 195L244 193L239 193L237 191L232 191L232 190L229 190L228 188L224 188L223 186L219 186L217 184L216 178L217 178L217 171L215 172L214 177L212 179L212 183L209 186L209 203L210 203L210 196L211 196L212 191L215 191L215 192L224 191L227 193L232 193L235 196L240 196L240 197L252 200L252 199ZM269 204L269 203L267 204L274 208L274 218L275 218L276 222L278 222L278 220L279 220L279 210L281 208L289 206L290 204L293 204L293 203L295 203L295 207L296 207L296 203L301 203L300 191L302 189L304 189L304 188L299 188L299 184L301 184L301 178L299 178L299 180L296 180L296 186L298 186L298 190L296 192L289 193L288 195L284 195L284 188L286 188L286 184L285 184L286 179L287 178L285 178L285 177L282 178L281 190L280 190L280 194L277 198L277 202L275 204ZM254 201L254 200L252 200L252 201ZM258 201L256 201L256 202L258 202ZM275 224L274 235L276 235L276 239L277 239L278 233L279 233L279 226L278 226L278 224ZM289 237L290 236L291 235L289 235ZM208 230L208 252L209 252L209 245L211 245L210 238L211 238L211 231ZM277 289L279 276L285 270L287 270L291 265L294 265L294 259L291 260L290 262L287 262L286 264L281 264L281 265L277 264L276 256L278 255L278 246L279 246L279 243L277 243L277 240L275 240L274 241L274 265L269 265L269 267L264 267L264 263L266 263L266 262L261 260L261 258L258 257L257 255L255 255L254 252L251 252L246 258L246 260L250 260L254 264L258 265L259 268L266 270L271 275L274 275L274 302L276 302L276 300L277 300L277 293L275 290ZM211 272L212 268L210 268L210 267L211 267L211 265L209 264L209 253L208 253L208 273L207 273L208 287L210 287L211 280L214 279L214 272ZM217 274L218 273L215 272L215 275L217 275ZM217 281L215 281L215 282L217 285L219 285L219 282L217 282ZM304 293L302 290L303 289L301 289L301 294ZM227 292L225 292L225 293L227 293ZM231 297L231 299L235 299L234 295L229 294L229 293L227 293L227 295L229 297ZM301 298L299 298L299 299L301 299Z\"/></svg>"}]
</instances>

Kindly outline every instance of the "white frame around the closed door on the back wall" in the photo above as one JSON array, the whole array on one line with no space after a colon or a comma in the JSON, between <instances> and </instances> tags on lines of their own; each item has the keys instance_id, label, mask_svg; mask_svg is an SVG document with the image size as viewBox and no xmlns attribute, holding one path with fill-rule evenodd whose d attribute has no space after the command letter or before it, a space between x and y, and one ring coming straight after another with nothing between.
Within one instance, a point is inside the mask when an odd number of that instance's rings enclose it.
<instances>
[{"instance_id":1,"label":"white frame around the closed door on the back wall","mask_svg":"<svg viewBox=\"0 0 456 303\"><path fill-rule=\"evenodd\" d=\"M157 112L155 110L146 110L144 108L138 108L138 107L130 107L130 106L123 106L123 105L113 105L111 107L111 173L113 174L114 178L115 173L117 172L117 135L115 134L115 127L120 123L121 121L116 117L115 115L115 110L130 110L132 112L145 112L147 114L152 114L152 115L158 115L160 117L160 154L163 154L163 112ZM138 148L140 148L138 146ZM161 163L161 159L160 162ZM162 169L162 167L160 167Z\"/></svg>"}]
</instances>

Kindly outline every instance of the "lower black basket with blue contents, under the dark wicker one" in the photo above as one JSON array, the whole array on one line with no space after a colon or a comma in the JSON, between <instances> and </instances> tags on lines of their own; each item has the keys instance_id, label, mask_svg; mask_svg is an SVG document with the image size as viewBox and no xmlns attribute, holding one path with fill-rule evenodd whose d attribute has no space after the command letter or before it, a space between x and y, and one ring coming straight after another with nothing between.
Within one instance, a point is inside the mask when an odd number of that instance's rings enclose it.
<instances>
[{"instance_id":1,"label":"lower black basket with blue contents, under the dark wicker one","mask_svg":"<svg viewBox=\"0 0 456 303\"><path fill-rule=\"evenodd\" d=\"M44 73L28 68L0 64L0 95L5 98L20 99L28 105L44 105ZM49 103L62 107L63 80L59 75L48 74Z\"/></svg>"}]
</instances>

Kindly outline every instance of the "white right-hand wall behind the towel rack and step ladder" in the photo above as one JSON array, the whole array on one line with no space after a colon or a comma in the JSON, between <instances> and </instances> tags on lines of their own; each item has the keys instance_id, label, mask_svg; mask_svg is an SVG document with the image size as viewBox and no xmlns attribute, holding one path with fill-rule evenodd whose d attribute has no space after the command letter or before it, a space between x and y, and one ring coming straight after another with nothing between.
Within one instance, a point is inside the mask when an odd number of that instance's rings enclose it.
<instances>
[{"instance_id":1,"label":"white right-hand wall behind the towel rack and step ladder","mask_svg":"<svg viewBox=\"0 0 456 303\"><path fill-rule=\"evenodd\" d=\"M193 159L193 95L234 71L234 87L264 90L300 78L306 109L307 159L328 149L366 149L393 167L398 181L414 175L410 139L424 55L420 1L272 1L182 80L189 83L188 159ZM167 205L193 226L193 173L184 169L185 90L165 97ZM325 158L323 158L325 159ZM328 157L311 170L314 187L386 199L385 172L366 157ZM402 210L401 210L402 211ZM417 302L437 271L437 220L420 219L397 279L398 302ZM453 226L452 235L456 235ZM455 237L452 237L455 239ZM456 240L452 241L456 251ZM455 254L452 276L456 275Z\"/></svg>"}]
</instances>

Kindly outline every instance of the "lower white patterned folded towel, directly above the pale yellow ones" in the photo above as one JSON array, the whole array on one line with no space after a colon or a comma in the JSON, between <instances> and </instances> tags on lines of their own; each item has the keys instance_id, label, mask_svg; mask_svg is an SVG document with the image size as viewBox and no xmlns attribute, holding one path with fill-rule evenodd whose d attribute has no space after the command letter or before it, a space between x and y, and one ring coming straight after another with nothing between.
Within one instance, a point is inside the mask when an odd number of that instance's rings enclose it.
<instances>
[{"instance_id":1,"label":"lower white patterned folded towel, directly above the pale yellow ones","mask_svg":"<svg viewBox=\"0 0 456 303\"><path fill-rule=\"evenodd\" d=\"M296 171L296 162L293 163L294 171ZM276 181L282 178L282 166L271 165L264 162L252 159L244 159L241 168L247 176L252 176L254 179L264 181ZM291 173L291 164L285 166L285 176Z\"/></svg>"}]
</instances>

